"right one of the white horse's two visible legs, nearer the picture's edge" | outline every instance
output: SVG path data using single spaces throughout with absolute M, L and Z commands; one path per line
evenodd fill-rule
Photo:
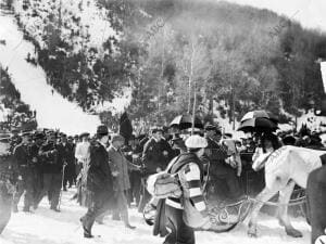
M 302 237 L 302 233 L 292 227 L 292 224 L 290 222 L 290 218 L 288 216 L 287 204 L 290 201 L 294 185 L 296 185 L 294 181 L 290 181 L 284 189 L 281 189 L 279 191 L 278 218 L 279 218 L 279 223 L 285 227 L 288 235 L 293 236 L 293 237 Z

